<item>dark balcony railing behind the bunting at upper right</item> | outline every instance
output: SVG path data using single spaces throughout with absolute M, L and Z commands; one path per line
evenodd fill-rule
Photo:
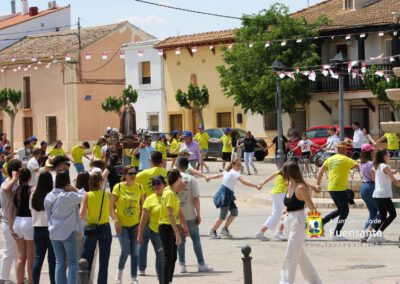
M 368 66 L 367 68 L 370 68 Z M 376 65 L 377 70 L 389 71 L 393 69 L 392 64 L 380 64 Z M 365 86 L 362 79 L 357 76 L 353 78 L 352 74 L 346 74 L 344 77 L 344 90 L 345 91 L 356 91 L 363 90 Z M 333 79 L 330 76 L 323 76 L 322 74 L 317 75 L 315 82 L 310 81 L 310 90 L 314 93 L 321 92 L 337 92 L 339 91 L 339 80 Z

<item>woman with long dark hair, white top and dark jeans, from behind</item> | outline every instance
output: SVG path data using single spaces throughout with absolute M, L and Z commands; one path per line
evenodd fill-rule
M 33 284 L 40 283 L 40 274 L 47 252 L 50 283 L 55 284 L 56 257 L 49 236 L 49 223 L 44 211 L 44 199 L 53 190 L 53 177 L 49 172 L 39 175 L 38 184 L 31 194 L 33 239 L 35 241 L 35 261 L 33 262 Z

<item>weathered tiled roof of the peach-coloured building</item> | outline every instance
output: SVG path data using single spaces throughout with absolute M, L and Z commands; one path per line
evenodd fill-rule
M 81 29 L 82 48 L 124 25 L 129 25 L 129 23 L 121 22 Z M 0 65 L 9 65 L 14 54 L 17 56 L 15 63 L 18 63 L 18 61 L 29 61 L 32 55 L 36 55 L 38 59 L 45 61 L 51 58 L 63 58 L 68 53 L 76 53 L 78 51 L 77 30 L 31 35 L 0 51 Z

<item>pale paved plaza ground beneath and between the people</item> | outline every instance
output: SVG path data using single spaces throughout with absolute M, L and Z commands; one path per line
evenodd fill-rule
M 220 163 L 210 162 L 212 172 L 217 172 Z M 259 168 L 258 175 L 246 178 L 253 182 L 262 181 L 271 174 L 275 167 L 272 164 L 256 163 Z M 177 264 L 173 283 L 243 283 L 242 254 L 240 247 L 250 245 L 253 257 L 253 283 L 279 283 L 279 272 L 285 255 L 287 243 L 271 240 L 261 242 L 255 239 L 255 234 L 271 213 L 271 207 L 260 202 L 248 203 L 244 200 L 254 199 L 254 196 L 269 196 L 271 185 L 257 193 L 255 189 L 249 189 L 239 184 L 236 192 L 238 197 L 239 217 L 230 228 L 234 236 L 233 240 L 210 240 L 207 236 L 211 224 L 218 216 L 212 201 L 212 196 L 218 190 L 220 181 L 215 180 L 206 183 L 199 180 L 202 192 L 201 210 L 202 224 L 200 225 L 201 241 L 207 264 L 214 268 L 212 273 L 197 273 L 197 264 L 190 239 L 187 242 L 186 261 L 189 273 L 180 274 Z M 267 196 L 267 197 L 266 197 Z M 323 215 L 330 209 L 321 209 Z M 400 213 L 400 212 L 399 212 Z M 344 233 L 358 234 L 362 231 L 363 222 L 368 212 L 366 209 L 351 209 L 349 223 L 344 226 Z M 348 242 L 330 241 L 329 231 L 334 224 L 326 226 L 327 237 L 306 241 L 306 251 L 311 261 L 320 273 L 323 283 L 400 283 L 400 217 L 387 229 L 385 237 L 390 243 L 383 245 L 361 244 L 357 236 L 350 237 Z M 268 236 L 272 236 L 268 233 Z M 0 248 L 3 240 L 0 240 Z M 110 257 L 109 281 L 115 283 L 120 247 L 118 240 L 113 239 L 112 253 Z M 43 268 L 41 283 L 49 283 L 47 265 Z M 139 277 L 139 283 L 157 283 L 154 269 L 154 251 L 149 245 L 148 274 Z M 14 275 L 13 275 L 14 277 Z M 129 260 L 124 271 L 124 282 L 130 283 Z M 301 272 L 298 270 L 296 283 L 305 283 Z

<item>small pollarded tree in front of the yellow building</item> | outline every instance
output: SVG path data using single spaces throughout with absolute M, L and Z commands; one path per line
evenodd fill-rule
M 181 107 L 193 110 L 200 124 L 204 127 L 203 109 L 209 102 L 208 88 L 205 85 L 199 88 L 198 86 L 190 84 L 187 93 L 179 89 L 176 92 L 175 99 Z

